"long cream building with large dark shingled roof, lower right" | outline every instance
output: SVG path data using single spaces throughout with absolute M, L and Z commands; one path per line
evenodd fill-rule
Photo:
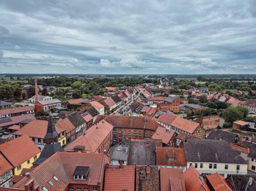
M 226 141 L 188 139 L 184 148 L 187 168 L 193 165 L 202 176 L 219 173 L 226 178 L 229 174 L 247 174 L 247 161 Z

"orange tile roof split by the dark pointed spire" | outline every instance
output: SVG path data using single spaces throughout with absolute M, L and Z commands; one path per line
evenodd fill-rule
M 17 130 L 13 134 L 15 135 L 27 134 L 29 137 L 44 139 L 45 134 L 47 132 L 47 126 L 48 126 L 48 121 L 36 119 L 26 124 L 20 130 Z M 55 129 L 58 134 L 65 131 L 64 129 L 61 129 L 58 126 L 55 126 Z

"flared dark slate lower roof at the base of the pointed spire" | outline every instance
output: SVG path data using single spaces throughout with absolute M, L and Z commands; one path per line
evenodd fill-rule
M 46 144 L 45 147 L 43 147 L 43 150 L 38 159 L 35 160 L 32 164 L 39 165 L 56 152 L 65 152 L 62 146 L 60 146 L 59 142 L 54 144 Z

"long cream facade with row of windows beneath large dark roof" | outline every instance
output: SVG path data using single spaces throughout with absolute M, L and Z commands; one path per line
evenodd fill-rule
M 187 162 L 187 168 L 193 165 L 202 175 L 219 173 L 224 178 L 230 174 L 247 174 L 248 164 L 232 164 L 232 163 L 211 163 L 211 162 Z

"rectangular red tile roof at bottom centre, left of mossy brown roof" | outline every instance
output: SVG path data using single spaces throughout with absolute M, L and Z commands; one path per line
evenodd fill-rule
M 106 165 L 105 170 L 105 191 L 134 191 L 135 187 L 135 166 L 123 165 L 122 169 L 116 165 Z

